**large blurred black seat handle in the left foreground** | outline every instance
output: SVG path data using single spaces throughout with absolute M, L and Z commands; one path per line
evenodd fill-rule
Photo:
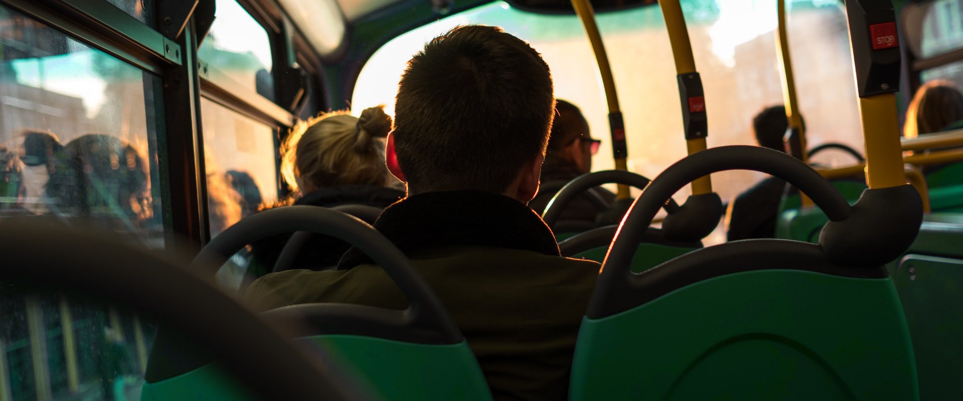
M 0 225 L 0 281 L 41 283 L 143 311 L 197 339 L 263 399 L 362 399 L 323 349 L 305 355 L 287 339 L 288 327 L 269 326 L 209 277 L 92 229 L 17 220 Z

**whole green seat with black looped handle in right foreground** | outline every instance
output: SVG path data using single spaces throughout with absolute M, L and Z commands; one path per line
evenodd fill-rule
M 664 201 L 726 170 L 779 176 L 832 223 L 820 244 L 743 240 L 632 272 L 638 239 Z M 909 329 L 885 267 L 922 219 L 915 189 L 867 190 L 851 207 L 784 153 L 713 147 L 677 162 L 614 239 L 576 342 L 571 400 L 919 398 Z M 889 204 L 887 212 L 874 204 Z M 880 216 L 887 216 L 882 222 Z

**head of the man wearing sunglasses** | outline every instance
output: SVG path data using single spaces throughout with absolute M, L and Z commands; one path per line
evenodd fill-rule
M 545 159 L 564 161 L 579 174 L 592 171 L 592 154 L 598 150 L 599 142 L 592 139 L 588 121 L 578 107 L 565 100 L 557 101 L 555 109 Z

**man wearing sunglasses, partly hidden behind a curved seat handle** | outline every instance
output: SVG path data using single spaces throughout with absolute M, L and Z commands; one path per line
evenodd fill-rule
M 555 109 L 555 122 L 552 123 L 552 133 L 548 137 L 545 164 L 542 165 L 542 184 L 538 195 L 529 202 L 529 206 L 539 214 L 545 212 L 548 202 L 565 183 L 591 172 L 592 156 L 601 145 L 601 141 L 592 139 L 588 121 L 578 107 L 565 100 L 558 100 Z M 615 194 L 602 187 L 589 191 L 594 194 L 586 193 L 569 202 L 559 220 L 586 222 L 586 227 L 593 227 L 600 210 L 588 197 L 595 196 L 611 204 L 615 200 Z

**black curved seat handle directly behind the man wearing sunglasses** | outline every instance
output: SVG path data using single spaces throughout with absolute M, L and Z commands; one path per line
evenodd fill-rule
M 568 205 L 570 201 L 575 200 L 579 195 L 582 195 L 582 193 L 599 185 L 610 183 L 625 184 L 644 190 L 645 187 L 649 185 L 649 182 L 651 182 L 651 180 L 642 175 L 623 170 L 605 170 L 579 175 L 561 187 L 559 193 L 555 194 L 555 197 L 548 202 L 548 205 L 545 206 L 545 212 L 542 213 L 542 220 L 545 221 L 548 227 L 554 227 L 555 224 L 558 223 L 565 206 Z M 679 205 L 671 198 L 664 203 L 663 207 L 668 213 L 673 213 L 679 209 Z

